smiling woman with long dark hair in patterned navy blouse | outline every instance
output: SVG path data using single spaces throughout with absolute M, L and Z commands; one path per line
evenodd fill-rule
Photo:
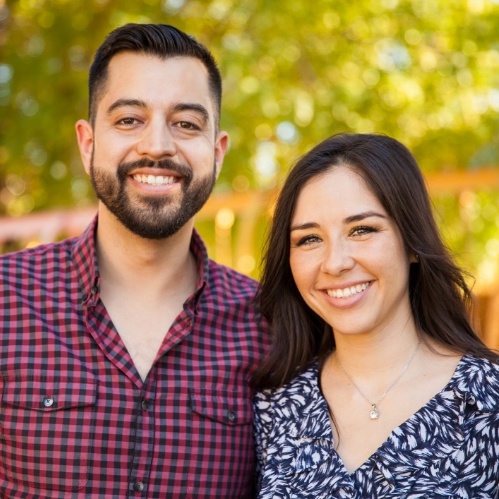
M 259 497 L 499 494 L 497 355 L 406 147 L 343 134 L 298 161 L 259 300 Z

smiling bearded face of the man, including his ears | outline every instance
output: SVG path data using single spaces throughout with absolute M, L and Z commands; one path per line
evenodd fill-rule
M 175 234 L 208 199 L 227 147 L 195 58 L 124 52 L 109 63 L 94 128 L 77 124 L 101 203 L 135 234 Z

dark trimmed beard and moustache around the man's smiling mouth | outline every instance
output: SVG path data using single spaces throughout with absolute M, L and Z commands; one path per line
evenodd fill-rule
M 180 204 L 172 206 L 168 195 L 140 196 L 134 202 L 127 192 L 128 173 L 138 167 L 156 167 L 161 174 L 166 169 L 182 180 Z M 121 163 L 115 175 L 96 170 L 90 165 L 90 178 L 97 197 L 108 210 L 131 232 L 146 239 L 163 239 L 180 230 L 206 203 L 216 181 L 215 165 L 212 175 L 193 180 L 192 170 L 170 159 L 152 161 L 147 158 Z M 138 194 L 135 194 L 138 196 Z

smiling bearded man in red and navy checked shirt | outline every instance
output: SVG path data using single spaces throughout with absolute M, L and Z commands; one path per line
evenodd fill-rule
M 1 497 L 249 497 L 255 283 L 193 216 L 222 167 L 220 74 L 166 25 L 98 49 L 76 133 L 98 214 L 0 259 Z

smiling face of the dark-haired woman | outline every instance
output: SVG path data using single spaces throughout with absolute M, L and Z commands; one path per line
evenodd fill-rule
M 335 337 L 404 328 L 410 260 L 395 222 L 355 170 L 334 166 L 304 185 L 290 245 L 298 290 Z

